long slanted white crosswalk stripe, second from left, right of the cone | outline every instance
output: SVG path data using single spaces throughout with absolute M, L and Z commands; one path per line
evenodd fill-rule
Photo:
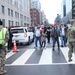
M 33 52 L 34 52 L 34 49 L 28 49 L 17 60 L 15 60 L 11 65 L 24 65 Z

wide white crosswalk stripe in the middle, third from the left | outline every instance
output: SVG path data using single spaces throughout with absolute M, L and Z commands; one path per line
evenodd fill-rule
M 39 64 L 51 64 L 52 63 L 52 48 L 46 48 L 43 50 Z

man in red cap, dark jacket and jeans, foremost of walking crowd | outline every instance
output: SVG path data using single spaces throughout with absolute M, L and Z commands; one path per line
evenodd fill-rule
M 58 28 L 57 24 L 54 24 L 54 27 L 52 28 L 52 31 L 51 31 L 51 36 L 53 39 L 53 51 L 55 50 L 56 42 L 58 45 L 58 50 L 60 50 L 60 45 L 59 45 L 60 29 Z

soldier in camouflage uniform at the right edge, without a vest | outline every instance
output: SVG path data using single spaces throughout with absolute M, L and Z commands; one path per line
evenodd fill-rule
M 72 61 L 72 53 L 75 50 L 75 20 L 71 20 L 71 26 L 67 30 L 67 40 L 69 43 L 68 61 Z

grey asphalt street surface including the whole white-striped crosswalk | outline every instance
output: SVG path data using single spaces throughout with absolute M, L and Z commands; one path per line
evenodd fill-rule
M 68 47 L 55 48 L 47 44 L 46 49 L 35 50 L 34 43 L 19 46 L 19 52 L 7 54 L 5 75 L 75 75 L 75 56 L 68 62 Z

